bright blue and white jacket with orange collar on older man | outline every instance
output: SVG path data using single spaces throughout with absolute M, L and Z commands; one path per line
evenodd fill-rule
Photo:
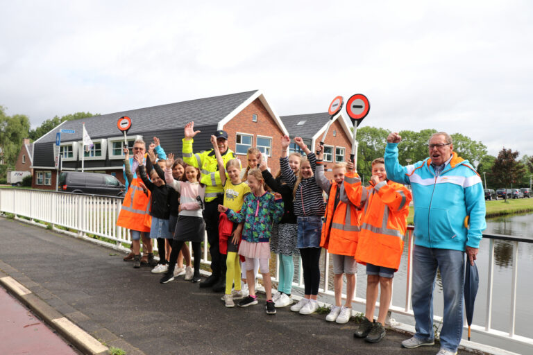
M 387 143 L 384 160 L 389 180 L 412 187 L 416 245 L 461 251 L 465 246 L 479 248 L 487 228 L 485 198 L 480 175 L 468 160 L 454 152 L 436 175 L 429 157 L 401 166 L 396 143 Z

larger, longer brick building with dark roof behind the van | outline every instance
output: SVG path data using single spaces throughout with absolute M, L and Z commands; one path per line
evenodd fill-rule
M 273 142 L 276 142 L 276 137 L 288 134 L 258 90 L 65 121 L 34 142 L 32 187 L 56 188 L 54 147 L 56 133 L 60 130 L 74 130 L 74 133 L 61 134 L 63 171 L 81 171 L 81 155 L 84 154 L 84 171 L 108 173 L 124 182 L 124 134 L 117 128 L 121 116 L 129 116 L 132 120 L 127 135 L 130 148 L 135 139 L 144 139 L 148 145 L 153 137 L 158 137 L 165 152 L 177 156 L 181 155 L 183 128 L 189 121 L 194 121 L 194 129 L 201 131 L 194 139 L 195 152 L 210 149 L 210 136 L 216 130 L 226 130 L 230 149 L 244 166 L 246 150 L 251 146 L 259 146 L 269 157 L 279 157 L 280 147 Z M 82 146 L 82 123 L 85 123 L 94 144 L 89 152 L 85 152 Z M 277 171 L 278 159 L 271 159 L 269 166 Z

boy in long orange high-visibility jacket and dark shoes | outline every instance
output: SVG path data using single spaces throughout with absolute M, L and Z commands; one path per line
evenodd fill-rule
M 364 207 L 355 259 L 366 264 L 366 312 L 354 336 L 378 343 L 385 336 L 383 324 L 391 303 L 392 278 L 400 266 L 412 195 L 404 185 L 387 180 L 383 158 L 373 160 L 371 186 L 366 189 L 355 175 L 346 176 L 352 181 L 344 182 L 348 198 L 354 205 Z M 375 322 L 378 286 L 380 312 Z

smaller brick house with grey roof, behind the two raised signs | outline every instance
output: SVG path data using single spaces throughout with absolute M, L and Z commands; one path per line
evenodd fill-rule
M 289 137 L 302 137 L 307 147 L 312 152 L 316 151 L 316 146 L 320 144 L 325 128 L 330 120 L 328 112 L 317 114 L 297 114 L 294 116 L 281 116 L 283 125 L 290 132 Z M 330 130 L 324 140 L 324 162 L 326 167 L 325 175 L 333 178 L 331 166 L 334 162 L 348 162 L 352 150 L 352 130 L 351 123 L 339 112 L 333 117 Z M 296 144 L 291 143 L 289 152 L 302 153 Z

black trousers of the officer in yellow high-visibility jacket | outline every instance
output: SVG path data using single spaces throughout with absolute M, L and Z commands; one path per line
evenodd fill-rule
M 219 248 L 219 204 L 223 198 L 215 198 L 205 202 L 203 220 L 205 231 L 208 233 L 209 253 L 211 255 L 211 270 L 217 277 L 226 277 L 226 255 L 220 253 Z M 222 200 L 222 201 L 221 201 Z

